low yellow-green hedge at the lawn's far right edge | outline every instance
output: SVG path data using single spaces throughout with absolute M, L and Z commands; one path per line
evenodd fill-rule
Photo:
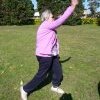
M 95 24 L 100 26 L 100 18 L 82 18 L 82 24 Z

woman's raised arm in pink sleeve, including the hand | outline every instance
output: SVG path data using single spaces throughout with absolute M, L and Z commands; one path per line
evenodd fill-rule
M 49 29 L 56 29 L 57 27 L 62 25 L 69 18 L 69 16 L 73 13 L 73 11 L 74 11 L 77 4 L 78 4 L 78 0 L 72 0 L 71 6 L 69 6 L 65 10 L 64 14 L 60 18 L 58 18 L 57 20 L 51 22 L 48 25 L 48 28 Z

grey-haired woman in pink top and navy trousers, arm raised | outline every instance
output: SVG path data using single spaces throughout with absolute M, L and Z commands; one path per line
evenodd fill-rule
M 60 94 L 64 93 L 59 88 L 62 79 L 62 69 L 59 63 L 59 43 L 55 29 L 68 19 L 77 4 L 78 0 L 71 0 L 71 5 L 56 20 L 54 20 L 50 10 L 45 10 L 42 13 L 41 19 L 43 22 L 38 28 L 36 41 L 36 57 L 39 62 L 39 69 L 30 82 L 20 87 L 22 100 L 27 100 L 27 95 L 43 82 L 50 70 L 52 70 L 53 74 L 51 90 Z

